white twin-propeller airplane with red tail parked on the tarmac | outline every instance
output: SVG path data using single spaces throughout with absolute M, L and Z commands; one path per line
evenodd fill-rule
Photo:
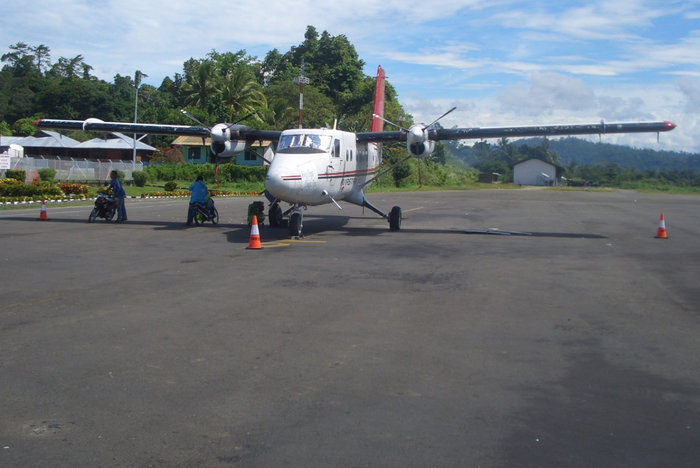
M 400 207 L 394 206 L 389 213 L 385 213 L 372 205 L 364 193 L 364 189 L 377 177 L 394 167 L 379 172 L 382 165 L 383 143 L 405 142 L 409 153 L 408 158 L 426 158 L 435 150 L 436 142 L 441 140 L 659 133 L 676 127 L 674 123 L 668 121 L 620 123 L 601 121 L 594 124 L 451 129 L 436 127 L 438 120 L 452 112 L 454 110 L 452 108 L 431 124 L 417 123 L 408 129 L 399 127 L 396 131 L 384 131 L 384 122 L 388 122 L 384 119 L 385 80 L 384 69 L 379 66 L 374 113 L 369 132 L 352 133 L 336 128 L 260 130 L 242 124 L 227 123 L 219 123 L 209 128 L 203 125 L 103 122 L 95 118 L 41 119 L 37 120 L 35 125 L 38 128 L 59 130 L 209 137 L 211 152 L 217 158 L 216 160 L 239 154 L 255 141 L 277 141 L 274 158 L 266 161 L 269 163 L 265 179 L 265 194 L 270 200 L 268 221 L 270 226 L 279 226 L 288 216 L 289 235 L 294 238 L 301 237 L 303 234 L 303 212 L 308 206 L 334 203 L 342 209 L 338 204 L 339 201 L 369 208 L 389 222 L 389 230 L 401 229 Z M 282 212 L 280 206 L 282 202 L 290 206 L 285 212 Z

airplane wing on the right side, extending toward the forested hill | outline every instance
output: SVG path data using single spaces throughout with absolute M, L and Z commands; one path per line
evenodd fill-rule
M 406 141 L 414 132 L 414 125 L 409 130 L 393 132 L 363 132 L 357 134 L 358 141 L 390 142 Z M 534 125 L 518 127 L 472 127 L 472 128 L 417 128 L 425 140 L 474 140 L 485 138 L 521 138 L 532 136 L 557 135 L 604 135 L 607 133 L 656 133 L 668 132 L 676 128 L 672 122 L 620 122 L 572 125 Z

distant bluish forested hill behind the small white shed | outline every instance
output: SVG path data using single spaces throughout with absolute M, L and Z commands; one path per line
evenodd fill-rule
M 526 138 L 513 142 L 516 146 L 542 145 L 542 138 Z M 563 166 L 572 162 L 579 166 L 606 166 L 640 171 L 669 170 L 700 172 L 700 154 L 636 149 L 610 143 L 594 143 L 580 138 L 561 138 L 549 141 L 549 150 L 559 155 Z

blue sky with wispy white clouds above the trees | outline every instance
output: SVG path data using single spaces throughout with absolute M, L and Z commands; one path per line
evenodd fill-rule
M 700 152 L 700 0 L 6 0 L 0 50 L 45 44 L 158 86 L 213 49 L 286 52 L 308 25 L 347 36 L 366 74 L 382 65 L 417 121 L 452 106 L 448 127 L 670 120 L 658 143 L 603 141 Z

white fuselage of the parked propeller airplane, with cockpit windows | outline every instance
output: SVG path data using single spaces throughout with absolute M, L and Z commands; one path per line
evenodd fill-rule
M 267 191 L 293 205 L 345 200 L 361 205 L 362 188 L 381 164 L 380 145 L 331 129 L 282 132 L 265 181 Z

